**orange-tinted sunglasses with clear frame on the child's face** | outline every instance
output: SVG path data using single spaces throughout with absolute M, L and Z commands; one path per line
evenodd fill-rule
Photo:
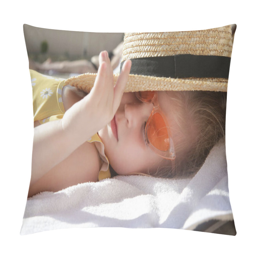
M 154 108 L 145 127 L 145 137 L 149 147 L 159 156 L 166 159 L 175 159 L 170 126 L 160 109 L 157 92 L 135 92 L 136 97 L 145 103 L 152 103 Z

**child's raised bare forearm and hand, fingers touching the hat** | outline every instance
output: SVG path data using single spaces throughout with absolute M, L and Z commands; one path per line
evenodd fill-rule
M 120 105 L 130 68 L 129 60 L 114 87 L 108 53 L 101 52 L 100 67 L 91 92 L 69 108 L 61 120 L 34 129 L 30 184 L 66 159 L 112 120 Z

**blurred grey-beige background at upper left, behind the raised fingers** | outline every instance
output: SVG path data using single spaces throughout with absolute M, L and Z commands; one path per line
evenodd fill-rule
M 109 53 L 114 73 L 118 73 L 124 33 L 93 33 L 37 28 L 24 24 L 29 68 L 68 78 L 96 73 L 98 55 Z M 114 60 L 113 60 L 114 59 Z

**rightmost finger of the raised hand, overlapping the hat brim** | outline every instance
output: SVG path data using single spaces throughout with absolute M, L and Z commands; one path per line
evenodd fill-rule
M 131 66 L 132 66 L 132 61 L 126 60 L 122 67 L 122 71 L 117 79 L 117 82 L 114 88 L 114 102 L 113 102 L 114 111 L 116 111 L 120 105 L 120 102 L 124 93 L 124 88 L 130 74 Z

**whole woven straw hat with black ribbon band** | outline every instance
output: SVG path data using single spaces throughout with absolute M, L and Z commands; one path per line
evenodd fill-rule
M 122 64 L 132 60 L 125 92 L 227 91 L 231 25 L 198 31 L 125 33 Z M 118 75 L 114 75 L 116 82 Z M 96 74 L 67 79 L 90 92 Z

